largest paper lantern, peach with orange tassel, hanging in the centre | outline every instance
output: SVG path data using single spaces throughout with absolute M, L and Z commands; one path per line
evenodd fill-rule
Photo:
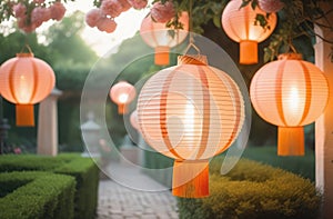
M 244 121 L 243 97 L 205 57 L 179 57 L 143 86 L 138 119 L 144 140 L 175 159 L 173 195 L 209 196 L 209 159 L 226 150 Z

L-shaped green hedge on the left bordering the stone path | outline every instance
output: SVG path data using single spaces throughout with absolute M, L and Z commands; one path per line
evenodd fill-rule
M 94 218 L 98 205 L 99 169 L 89 158 L 79 153 L 47 156 L 1 156 L 0 172 L 48 171 L 75 178 L 74 218 Z

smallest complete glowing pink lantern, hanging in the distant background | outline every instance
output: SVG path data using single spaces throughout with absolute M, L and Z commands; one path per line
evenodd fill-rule
M 128 104 L 135 98 L 135 88 L 127 81 L 120 81 L 110 90 L 110 97 L 118 104 L 118 113 L 128 113 Z

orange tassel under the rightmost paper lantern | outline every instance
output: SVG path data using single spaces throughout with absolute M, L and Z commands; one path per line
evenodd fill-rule
M 304 156 L 303 127 L 279 127 L 279 156 Z

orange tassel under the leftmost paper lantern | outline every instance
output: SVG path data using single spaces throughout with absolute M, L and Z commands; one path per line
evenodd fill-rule
M 34 127 L 33 104 L 16 104 L 17 126 Z

